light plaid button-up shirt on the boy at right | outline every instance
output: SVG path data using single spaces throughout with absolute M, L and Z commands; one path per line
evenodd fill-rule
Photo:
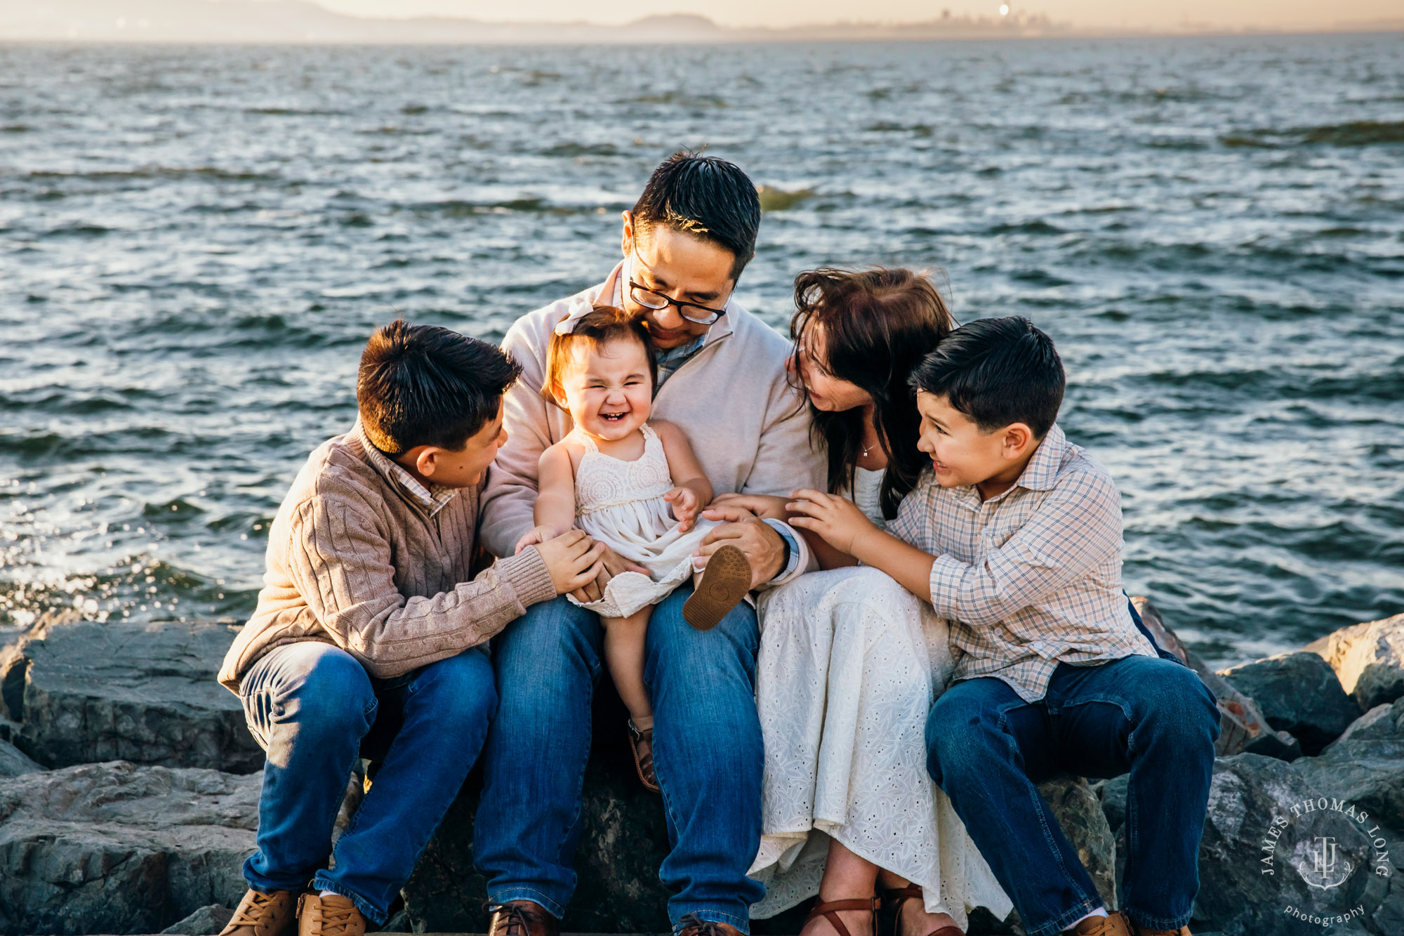
M 994 676 L 1032 703 L 1059 663 L 1155 656 L 1122 593 L 1120 495 L 1057 426 L 988 500 L 927 472 L 889 531 L 936 557 L 931 604 L 951 623 L 958 680 Z

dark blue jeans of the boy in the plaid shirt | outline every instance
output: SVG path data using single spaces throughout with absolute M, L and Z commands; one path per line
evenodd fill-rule
M 993 677 L 948 689 L 927 720 L 927 769 L 1029 936 L 1052 936 L 1102 905 L 1035 784 L 1060 772 L 1130 772 L 1126 909 L 1147 929 L 1178 929 L 1199 891 L 1217 736 L 1213 694 L 1178 661 L 1061 663 L 1032 704 Z

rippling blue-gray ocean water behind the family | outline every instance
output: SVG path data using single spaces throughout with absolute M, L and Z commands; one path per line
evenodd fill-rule
M 1212 661 L 1404 611 L 1400 39 L 0 46 L 0 627 L 246 616 L 371 329 L 500 337 L 701 145 L 771 323 L 886 263 L 1053 334 Z

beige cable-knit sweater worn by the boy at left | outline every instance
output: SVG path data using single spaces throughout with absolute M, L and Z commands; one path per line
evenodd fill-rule
M 268 534 L 258 607 L 219 682 L 239 680 L 281 644 L 322 641 L 390 677 L 482 644 L 556 597 L 535 547 L 469 575 L 480 489 L 432 517 L 371 464 L 352 427 L 307 458 Z

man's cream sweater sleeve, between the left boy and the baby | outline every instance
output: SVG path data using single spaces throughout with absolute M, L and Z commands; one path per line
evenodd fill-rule
M 550 424 L 541 396 L 546 374 L 546 349 L 528 330 L 514 326 L 503 350 L 522 365 L 522 375 L 503 396 L 503 429 L 507 444 L 487 472 L 482 523 L 477 534 L 493 555 L 511 555 L 517 541 L 535 526 L 536 472 L 541 454 L 550 447 Z

